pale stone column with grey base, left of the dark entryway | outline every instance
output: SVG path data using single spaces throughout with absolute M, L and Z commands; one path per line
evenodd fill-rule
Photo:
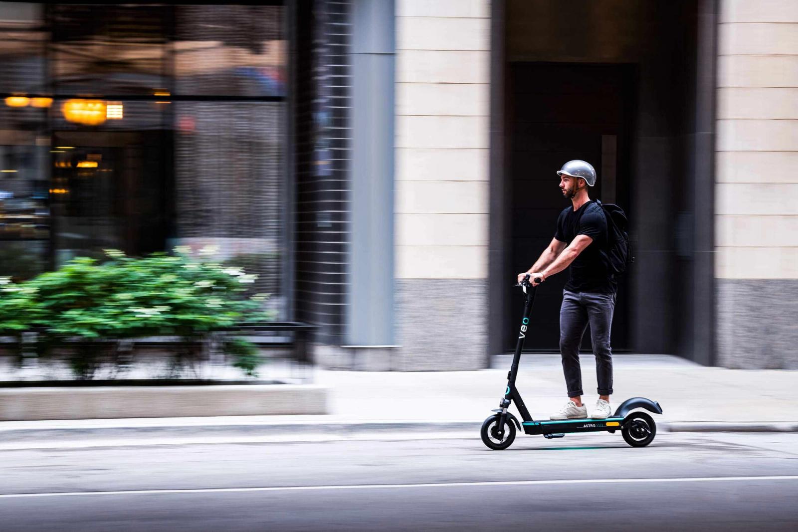
M 396 6 L 393 369 L 484 368 L 490 2 Z

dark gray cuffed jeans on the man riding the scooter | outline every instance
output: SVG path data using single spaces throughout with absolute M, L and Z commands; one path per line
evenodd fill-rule
M 615 294 L 577 294 L 563 290 L 563 306 L 559 309 L 559 353 L 563 357 L 563 372 L 569 397 L 583 395 L 579 345 L 587 325 L 591 326 L 599 395 L 608 396 L 612 393 L 610 329 L 614 310 Z

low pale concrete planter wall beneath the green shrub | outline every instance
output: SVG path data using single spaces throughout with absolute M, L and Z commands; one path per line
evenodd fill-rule
M 326 414 L 314 384 L 98 386 L 0 389 L 0 420 Z

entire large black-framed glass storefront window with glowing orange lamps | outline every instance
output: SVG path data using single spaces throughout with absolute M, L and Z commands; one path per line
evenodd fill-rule
M 0 276 L 212 245 L 286 308 L 282 17 L 0 2 Z

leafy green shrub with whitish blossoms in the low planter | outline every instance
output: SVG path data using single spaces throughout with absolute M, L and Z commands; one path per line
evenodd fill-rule
M 190 250 L 178 247 L 173 255 L 144 258 L 116 250 L 106 254 L 106 262 L 74 258 L 25 282 L 0 279 L 0 335 L 37 331 L 44 356 L 54 346 L 72 345 L 73 372 L 91 378 L 109 354 L 109 341 L 178 336 L 184 350 L 177 359 L 185 360 L 196 357 L 197 346 L 212 332 L 272 319 L 262 309 L 265 294 L 245 296 L 255 276 L 223 267 L 208 253 L 192 258 Z M 225 345 L 232 346 L 234 365 L 254 375 L 255 358 L 243 341 Z

